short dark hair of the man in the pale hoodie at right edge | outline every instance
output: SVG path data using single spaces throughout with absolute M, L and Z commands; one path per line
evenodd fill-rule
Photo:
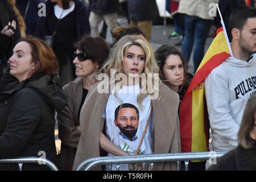
M 232 29 L 237 28 L 242 31 L 249 18 L 256 18 L 256 9 L 254 7 L 240 6 L 232 11 L 228 23 L 229 40 L 232 40 Z

